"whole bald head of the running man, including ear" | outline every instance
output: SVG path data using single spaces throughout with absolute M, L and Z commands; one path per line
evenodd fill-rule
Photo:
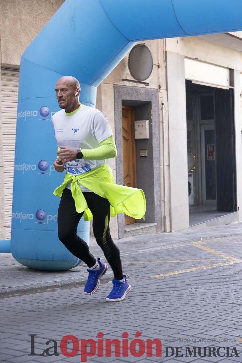
M 75 110 L 80 104 L 80 91 L 81 86 L 77 78 L 63 76 L 58 79 L 56 83 L 56 97 L 61 109 L 65 109 L 67 113 Z

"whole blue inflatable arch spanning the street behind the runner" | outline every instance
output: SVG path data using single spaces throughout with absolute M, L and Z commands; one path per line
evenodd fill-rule
M 241 0 L 66 0 L 21 58 L 11 252 L 25 266 L 66 270 L 81 261 L 58 240 L 53 195 L 55 85 L 81 83 L 80 101 L 95 107 L 97 86 L 137 41 L 242 30 Z M 79 226 L 89 239 L 89 222 Z M 81 231 L 81 232 L 80 232 Z M 2 241 L 1 252 L 10 251 Z

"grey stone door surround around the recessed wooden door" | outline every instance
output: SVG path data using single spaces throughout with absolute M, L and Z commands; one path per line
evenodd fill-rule
M 152 115 L 150 121 L 150 139 L 148 141 L 152 163 L 152 172 L 144 174 L 143 178 L 137 176 L 137 187 L 144 191 L 147 209 L 145 219 L 139 223 L 156 223 L 156 233 L 162 232 L 161 218 L 161 190 L 160 190 L 160 118 L 158 90 L 144 87 L 114 85 L 114 111 L 115 111 L 115 143 L 116 156 L 116 183 L 123 184 L 123 141 L 122 141 L 122 105 L 139 107 L 141 104 L 151 103 Z M 140 141 L 140 140 L 139 140 Z M 141 147 L 142 148 L 142 147 Z M 139 166 L 137 165 L 137 175 Z M 118 213 L 118 237 L 123 238 L 125 233 L 124 215 Z

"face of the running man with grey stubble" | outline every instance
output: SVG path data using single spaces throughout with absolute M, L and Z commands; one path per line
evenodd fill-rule
M 69 109 L 75 101 L 75 88 L 68 81 L 60 80 L 56 83 L 56 97 L 61 109 Z

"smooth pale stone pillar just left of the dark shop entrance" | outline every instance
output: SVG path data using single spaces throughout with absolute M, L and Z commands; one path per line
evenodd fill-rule
M 167 52 L 171 231 L 189 227 L 184 56 Z

